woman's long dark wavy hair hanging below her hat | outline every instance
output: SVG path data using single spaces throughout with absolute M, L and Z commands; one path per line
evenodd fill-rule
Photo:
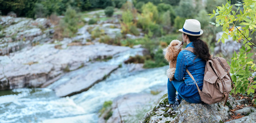
M 195 58 L 200 57 L 204 60 L 211 59 L 208 45 L 200 39 L 200 36 L 187 35 L 190 42 L 193 42 Z

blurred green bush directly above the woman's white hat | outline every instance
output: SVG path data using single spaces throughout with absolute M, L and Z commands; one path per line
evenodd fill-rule
M 191 3 L 193 3 L 193 0 L 181 0 L 179 6 L 176 8 L 176 14 L 180 17 L 193 18 L 196 15 L 196 9 Z

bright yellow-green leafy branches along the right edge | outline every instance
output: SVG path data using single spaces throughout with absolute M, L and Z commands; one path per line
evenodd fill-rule
M 256 31 L 256 9 L 254 1 L 244 0 L 243 2 L 243 4 L 234 5 L 238 7 L 237 11 L 233 11 L 233 5 L 228 2 L 226 5 L 218 6 L 216 10 L 213 10 L 213 14 L 209 15 L 216 17 L 215 23 L 212 24 L 216 25 L 216 27 L 222 26 L 222 31 L 224 31 L 218 42 L 221 40 L 222 43 L 225 43 L 225 38 L 227 39 L 228 36 L 237 42 L 243 42 L 243 47 L 240 49 L 239 54 L 236 52 L 233 54 L 230 73 L 237 88 L 235 91 L 249 94 L 254 93 L 256 88 L 256 85 L 253 85 L 255 82 L 248 80 L 248 77 L 256 71 L 252 58 L 256 45 L 251 41 L 252 37 L 250 37 Z M 241 27 L 238 27 L 238 25 Z M 232 92 L 234 92 L 234 89 Z

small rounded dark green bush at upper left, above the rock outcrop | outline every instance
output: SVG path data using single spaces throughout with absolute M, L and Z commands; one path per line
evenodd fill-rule
M 40 17 L 45 17 L 45 15 L 48 13 L 48 10 L 46 7 L 44 7 L 43 4 L 36 3 L 34 12 L 35 12 L 35 18 L 40 18 Z

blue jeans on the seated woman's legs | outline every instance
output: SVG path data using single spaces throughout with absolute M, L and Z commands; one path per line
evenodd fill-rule
M 179 94 L 180 92 L 178 92 L 178 95 L 176 96 L 176 90 L 178 90 L 178 88 L 182 84 L 184 84 L 183 80 L 182 81 L 170 81 L 169 78 L 168 78 L 167 90 L 168 90 L 168 101 L 169 101 L 169 104 L 174 104 L 175 101 L 176 101 L 176 98 L 178 100 L 184 99 L 188 103 L 192 103 L 192 104 L 202 103 L 200 95 L 196 95 L 196 96 L 193 96 L 193 97 L 185 98 L 183 95 Z

